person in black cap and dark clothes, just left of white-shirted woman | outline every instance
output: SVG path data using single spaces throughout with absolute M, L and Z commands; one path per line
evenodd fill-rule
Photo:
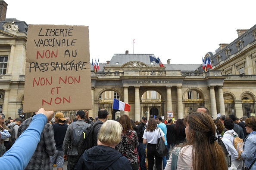
M 143 134 L 145 129 L 147 128 L 147 116 L 143 116 L 141 118 L 141 123 L 138 124 L 138 138 L 139 138 L 139 146 L 138 146 L 138 155 L 140 158 L 140 170 L 146 170 L 145 161 L 146 161 L 146 145 L 143 144 Z

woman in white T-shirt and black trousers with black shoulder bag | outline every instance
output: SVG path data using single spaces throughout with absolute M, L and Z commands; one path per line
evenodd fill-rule
M 143 134 L 143 143 L 147 144 L 148 170 L 153 170 L 154 158 L 156 158 L 156 170 L 162 170 L 162 157 L 156 155 L 156 143 L 160 137 L 162 137 L 162 140 L 165 142 L 162 129 L 157 127 L 154 118 L 149 118 L 147 129 L 145 129 Z

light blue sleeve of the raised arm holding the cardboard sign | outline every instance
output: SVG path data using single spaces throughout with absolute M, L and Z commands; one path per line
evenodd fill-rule
M 34 115 L 28 129 L 15 141 L 11 149 L 0 158 L 1 167 L 8 167 L 10 170 L 24 170 L 37 148 L 46 123 L 47 117 L 45 115 Z

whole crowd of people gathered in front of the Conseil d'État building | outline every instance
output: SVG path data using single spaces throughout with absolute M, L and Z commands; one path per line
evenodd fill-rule
M 67 170 L 256 170 L 254 116 L 221 115 L 213 120 L 206 107 L 175 121 L 150 115 L 136 122 L 125 114 L 113 121 L 108 115 L 100 109 L 93 119 L 79 110 L 70 120 L 62 112 L 52 118 L 52 111 L 41 108 L 26 120 L 22 114 L 4 122 L 0 113 L 0 164 L 11 170 L 50 170 L 54 165 L 62 170 L 64 161 Z M 90 128 L 92 146 L 79 155 L 79 132 Z M 241 152 L 236 137 L 242 140 Z M 159 138 L 169 151 L 161 157 L 156 149 Z M 28 143 L 21 157 L 17 148 Z

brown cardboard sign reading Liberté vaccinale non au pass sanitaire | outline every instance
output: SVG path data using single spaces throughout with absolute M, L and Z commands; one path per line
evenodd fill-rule
M 87 26 L 29 25 L 24 112 L 92 109 Z

